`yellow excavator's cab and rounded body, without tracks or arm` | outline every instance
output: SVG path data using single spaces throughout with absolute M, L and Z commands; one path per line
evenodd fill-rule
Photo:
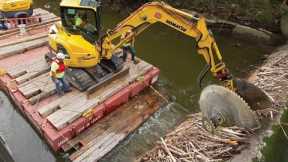
M 49 45 L 67 57 L 74 68 L 91 68 L 100 63 L 100 3 L 96 0 L 62 0 L 61 23 L 50 28 Z M 81 65 L 81 66 L 79 66 Z

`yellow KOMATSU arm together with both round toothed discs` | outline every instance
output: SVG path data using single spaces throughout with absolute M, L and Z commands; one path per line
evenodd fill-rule
M 162 2 L 147 3 L 118 24 L 114 30 L 107 32 L 103 37 L 102 57 L 111 58 L 112 53 L 123 43 L 130 42 L 149 26 L 158 22 L 196 40 L 197 52 L 204 58 L 208 67 L 200 77 L 200 86 L 204 74 L 209 70 L 214 77 L 224 82 L 226 88 L 210 85 L 201 93 L 199 106 L 204 128 L 211 132 L 219 125 L 259 128 L 258 118 L 252 109 L 263 109 L 267 107 L 265 105 L 271 107 L 273 100 L 257 86 L 232 77 L 202 16 L 196 17 Z M 132 34 L 128 34 L 125 39 L 119 39 L 127 32 Z

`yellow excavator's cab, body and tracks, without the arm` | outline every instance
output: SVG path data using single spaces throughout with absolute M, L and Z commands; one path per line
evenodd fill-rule
M 86 91 L 100 86 L 118 74 L 123 60 L 118 56 L 103 59 L 101 33 L 101 5 L 98 0 L 62 0 L 61 23 L 50 28 L 51 53 L 45 55 L 51 62 L 55 53 L 66 55 L 69 67 L 66 78 L 76 89 Z

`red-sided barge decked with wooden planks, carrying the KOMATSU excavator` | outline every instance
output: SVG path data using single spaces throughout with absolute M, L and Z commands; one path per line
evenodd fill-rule
M 44 55 L 49 27 L 59 18 L 36 11 L 43 18 L 25 34 L 0 32 L 0 87 L 55 152 L 72 161 L 97 161 L 159 109 L 160 98 L 147 87 L 160 71 L 138 59 L 92 93 L 73 89 L 58 97 Z

